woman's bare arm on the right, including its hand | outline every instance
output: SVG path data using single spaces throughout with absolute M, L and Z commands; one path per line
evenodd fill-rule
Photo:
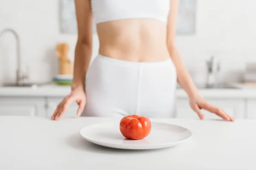
M 191 108 L 198 114 L 200 119 L 204 119 L 204 115 L 201 113 L 201 109 L 205 109 L 215 113 L 218 116 L 221 116 L 225 120 L 234 121 L 234 119 L 225 113 L 221 108 L 208 103 L 199 95 L 198 89 L 196 88 L 191 77 L 189 76 L 188 71 L 185 68 L 185 65 L 183 64 L 180 54 L 175 47 L 178 8 L 179 0 L 170 0 L 170 12 L 167 23 L 167 47 L 170 57 L 172 58 L 172 61 L 177 70 L 177 82 L 188 94 L 189 104 Z

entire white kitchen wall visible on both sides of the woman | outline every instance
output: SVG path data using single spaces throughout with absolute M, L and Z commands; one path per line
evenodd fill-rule
M 0 30 L 14 28 L 21 41 L 24 65 L 31 81 L 49 81 L 57 73 L 57 42 L 70 45 L 76 35 L 60 34 L 58 0 L 0 0 Z M 246 62 L 256 62 L 256 1 L 197 0 L 196 34 L 177 36 L 177 48 L 195 82 L 204 82 L 206 59 L 221 59 L 221 79 L 240 80 Z M 99 43 L 94 37 L 93 56 Z M 15 42 L 0 40 L 0 82 L 15 80 Z

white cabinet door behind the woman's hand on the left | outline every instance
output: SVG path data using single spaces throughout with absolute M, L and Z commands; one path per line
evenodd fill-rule
M 47 98 L 47 116 L 50 117 L 54 113 L 58 104 L 64 99 L 64 97 L 49 97 Z M 62 117 L 76 117 L 78 105 L 76 102 L 72 103 L 67 109 L 66 113 Z

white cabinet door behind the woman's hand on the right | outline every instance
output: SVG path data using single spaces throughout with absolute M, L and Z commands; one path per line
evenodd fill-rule
M 209 103 L 222 108 L 226 113 L 236 119 L 244 119 L 245 102 L 243 99 L 207 99 Z M 201 110 L 205 119 L 221 119 L 219 116 L 209 111 Z M 178 118 L 198 118 L 197 113 L 193 113 L 189 106 L 189 99 L 177 99 Z

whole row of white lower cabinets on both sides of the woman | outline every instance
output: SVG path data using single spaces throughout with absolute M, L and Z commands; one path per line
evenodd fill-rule
M 63 97 L 0 97 L 0 115 L 17 116 L 44 116 L 50 117 L 54 113 Z M 207 99 L 207 98 L 206 98 Z M 235 119 L 256 119 L 256 99 L 217 99 L 208 98 L 207 101 L 224 109 Z M 189 99 L 186 97 L 177 98 L 177 118 L 199 119 L 197 114 L 189 106 Z M 63 117 L 76 117 L 78 105 L 72 103 L 64 113 Z M 221 119 L 214 113 L 201 110 L 205 119 Z

